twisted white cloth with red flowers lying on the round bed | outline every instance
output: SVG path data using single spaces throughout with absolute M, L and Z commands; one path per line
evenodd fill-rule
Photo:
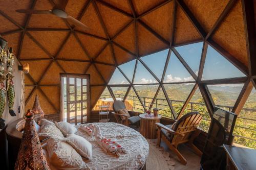
M 97 125 L 89 125 L 80 127 L 80 129 L 86 131 L 90 136 L 95 135 L 95 139 L 100 147 L 107 153 L 112 153 L 119 156 L 121 153 L 127 153 L 121 144 L 111 139 L 106 139 L 101 135 L 100 128 Z

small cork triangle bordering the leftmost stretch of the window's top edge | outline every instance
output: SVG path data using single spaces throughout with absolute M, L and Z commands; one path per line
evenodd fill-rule
M 115 56 L 116 56 L 116 62 L 118 65 L 121 65 L 125 62 L 131 61 L 135 58 L 135 56 L 125 52 L 120 47 L 113 45 Z

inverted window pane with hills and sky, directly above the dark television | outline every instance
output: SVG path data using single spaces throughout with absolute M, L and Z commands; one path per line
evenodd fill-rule
M 243 88 L 243 84 L 217 84 L 207 85 L 207 87 L 215 105 L 231 111 Z

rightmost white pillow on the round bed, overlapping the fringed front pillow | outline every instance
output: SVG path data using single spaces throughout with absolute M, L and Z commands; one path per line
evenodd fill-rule
M 66 140 L 84 158 L 92 158 L 92 144 L 81 136 L 68 134 Z

